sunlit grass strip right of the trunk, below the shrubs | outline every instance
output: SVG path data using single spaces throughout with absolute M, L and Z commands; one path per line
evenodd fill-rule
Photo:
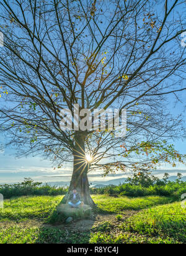
M 96 196 L 92 196 L 92 198 L 98 206 L 99 213 L 122 213 L 128 209 L 137 211 L 159 204 L 167 204 L 173 200 L 172 198 L 164 196 L 144 196 L 143 198 L 118 196 L 118 198 L 114 198 L 112 196 L 106 196 L 105 194 L 97 194 Z

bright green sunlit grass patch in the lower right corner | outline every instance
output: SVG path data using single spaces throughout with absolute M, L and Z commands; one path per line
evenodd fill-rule
M 122 225 L 123 229 L 186 242 L 186 209 L 180 202 L 140 211 Z

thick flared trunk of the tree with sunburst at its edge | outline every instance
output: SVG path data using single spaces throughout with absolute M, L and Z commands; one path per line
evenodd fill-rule
M 75 135 L 76 145 L 74 148 L 74 167 L 73 176 L 69 186 L 68 193 L 64 196 L 62 203 L 67 203 L 69 196 L 76 189 L 81 195 L 84 204 L 88 204 L 91 207 L 95 206 L 94 201 L 91 198 L 89 190 L 89 180 L 87 177 L 87 171 L 89 170 L 89 163 L 86 162 L 85 155 L 85 135 L 78 133 Z

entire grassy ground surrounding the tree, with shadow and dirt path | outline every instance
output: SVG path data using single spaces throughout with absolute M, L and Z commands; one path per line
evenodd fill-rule
M 0 209 L 0 243 L 185 243 L 186 211 L 172 197 L 92 196 L 89 219 L 51 224 L 63 196 L 6 199 Z

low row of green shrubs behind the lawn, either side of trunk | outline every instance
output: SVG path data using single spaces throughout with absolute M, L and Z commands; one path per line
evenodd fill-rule
M 164 178 L 166 179 L 166 178 Z M 124 183 L 118 186 L 109 185 L 104 188 L 91 188 L 91 194 L 109 194 L 110 196 L 174 196 L 180 199 L 181 194 L 186 193 L 186 182 L 177 179 L 176 181 L 157 181 L 156 183 L 143 186 L 141 184 L 134 185 L 131 183 Z M 56 187 L 48 184 L 34 182 L 30 178 L 25 178 L 22 183 L 14 185 L 0 185 L 0 193 L 4 198 L 11 198 L 14 196 L 57 196 L 66 194 L 68 187 Z

